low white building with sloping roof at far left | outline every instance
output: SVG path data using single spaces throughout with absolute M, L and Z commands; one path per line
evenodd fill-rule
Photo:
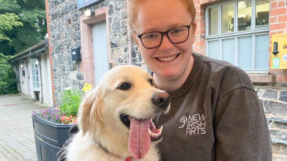
M 16 73 L 20 93 L 53 105 L 47 39 L 13 56 L 8 63 Z

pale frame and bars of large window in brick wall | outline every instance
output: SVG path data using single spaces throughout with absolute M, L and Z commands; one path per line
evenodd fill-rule
M 256 35 L 262 35 L 262 34 L 269 34 L 269 25 L 268 27 L 255 29 L 255 20 L 256 20 L 256 0 L 251 0 L 251 30 L 244 30 L 244 31 L 238 31 L 238 19 L 237 19 L 237 13 L 238 13 L 238 2 L 244 1 L 244 0 L 231 0 L 231 1 L 225 1 L 217 4 L 212 4 L 209 6 L 206 6 L 205 15 L 206 15 L 206 26 L 205 26 L 205 41 L 206 41 L 206 56 L 208 56 L 208 41 L 211 40 L 219 40 L 219 59 L 222 59 L 222 39 L 228 39 L 228 38 L 235 38 L 235 52 L 234 52 L 234 65 L 238 66 L 238 37 L 242 36 L 252 36 L 252 65 L 251 69 L 243 69 L 246 73 L 268 73 L 268 68 L 266 69 L 254 69 L 255 68 L 255 40 Z M 222 12 L 222 6 L 226 4 L 234 3 L 234 29 L 233 33 L 221 33 L 221 12 Z M 269 1 L 270 5 L 270 1 Z M 208 35 L 209 33 L 209 9 L 213 7 L 218 7 L 218 33 L 214 35 Z M 270 9 L 269 9 L 269 19 L 270 19 Z M 268 61 L 268 60 L 266 60 Z

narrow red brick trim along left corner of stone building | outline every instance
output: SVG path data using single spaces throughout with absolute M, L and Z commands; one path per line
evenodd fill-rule
M 46 5 L 46 20 L 47 20 L 47 33 L 48 33 L 48 45 L 49 45 L 49 59 L 50 59 L 50 71 L 51 71 L 51 85 L 52 85 L 52 96 L 53 96 L 53 104 L 56 104 L 56 99 L 54 96 L 55 93 L 55 86 L 54 86 L 54 73 L 52 70 L 52 65 L 53 65 L 53 61 L 52 61 L 52 47 L 51 47 L 51 32 L 50 32 L 50 17 L 49 17 L 49 3 L 48 0 L 45 0 L 45 5 Z

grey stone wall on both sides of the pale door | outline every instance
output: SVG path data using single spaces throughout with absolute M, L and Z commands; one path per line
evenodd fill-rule
M 83 74 L 79 65 L 72 61 L 71 48 L 81 47 L 80 16 L 86 9 L 109 8 L 111 59 L 116 65 L 129 63 L 127 14 L 125 0 L 101 0 L 77 10 L 75 0 L 48 0 L 48 28 L 50 32 L 54 97 L 59 101 L 60 92 L 66 87 L 82 88 Z M 133 64 L 141 66 L 137 47 L 132 45 Z

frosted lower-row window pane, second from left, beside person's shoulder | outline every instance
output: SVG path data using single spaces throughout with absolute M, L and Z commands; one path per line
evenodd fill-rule
M 234 38 L 222 39 L 222 60 L 234 65 Z

